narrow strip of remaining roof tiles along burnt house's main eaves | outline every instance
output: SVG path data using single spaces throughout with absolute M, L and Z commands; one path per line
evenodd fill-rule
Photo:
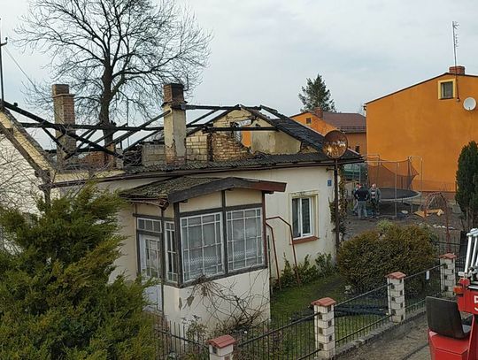
M 360 160 L 360 157 L 357 157 Z M 247 170 L 248 168 L 257 168 L 263 166 L 274 165 L 293 165 L 293 164 L 306 164 L 306 163 L 325 163 L 329 164 L 332 160 L 326 157 L 322 152 L 310 152 L 299 154 L 280 154 L 280 155 L 258 155 L 242 160 L 231 161 L 197 161 L 187 162 L 181 165 L 161 164 L 151 166 L 132 166 L 125 168 L 127 173 L 140 173 L 140 172 L 174 172 L 178 170 L 190 170 L 200 171 L 206 169 L 231 169 L 231 170 Z

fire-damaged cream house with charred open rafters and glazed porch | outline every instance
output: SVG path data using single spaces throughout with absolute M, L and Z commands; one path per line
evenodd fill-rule
M 53 94 L 61 101 L 55 123 L 11 104 L 0 111 L 2 124 L 13 129 L 10 141 L 37 167 L 48 195 L 90 179 L 120 190 L 129 205 L 119 214 L 125 241 L 112 276 L 157 280 L 147 295 L 167 318 L 198 317 L 212 326 L 237 320 L 239 308 L 267 318 L 270 279 L 286 259 L 297 264 L 307 255 L 335 256 L 333 163 L 321 151 L 322 134 L 263 105 L 189 105 L 182 86 L 171 84 L 164 88 L 164 125 L 153 119 L 134 129 L 119 126 L 124 132 L 113 136 L 112 146 L 104 135 L 93 140 L 85 135 L 91 129 L 74 124 L 65 86 Z M 211 116 L 189 121 L 187 111 L 195 109 Z M 57 149 L 42 149 L 28 137 L 15 112 L 59 132 Z M 148 136 L 123 143 L 146 126 L 152 126 Z M 249 147 L 241 136 L 247 126 L 254 128 Z M 22 134 L 33 144 L 29 151 L 16 142 Z M 361 161 L 353 151 L 340 160 Z M 237 298 L 244 306 L 231 301 Z

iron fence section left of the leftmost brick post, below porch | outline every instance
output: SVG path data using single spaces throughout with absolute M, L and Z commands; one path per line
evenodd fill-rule
M 158 359 L 206 360 L 209 349 L 204 338 L 205 329 L 195 324 L 176 324 L 159 314 L 152 314 L 156 335 L 156 357 Z

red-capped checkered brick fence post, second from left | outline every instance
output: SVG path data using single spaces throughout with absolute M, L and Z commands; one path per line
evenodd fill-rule
M 330 297 L 312 302 L 313 312 L 316 314 L 313 318 L 315 349 L 320 350 L 318 356 L 324 359 L 332 359 L 335 356 L 335 303 Z

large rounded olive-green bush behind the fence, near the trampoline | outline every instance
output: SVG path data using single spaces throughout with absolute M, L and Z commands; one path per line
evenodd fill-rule
M 380 229 L 343 242 L 337 257 L 339 272 L 360 290 L 378 287 L 390 272 L 407 275 L 432 267 L 434 234 L 421 226 L 381 224 Z

